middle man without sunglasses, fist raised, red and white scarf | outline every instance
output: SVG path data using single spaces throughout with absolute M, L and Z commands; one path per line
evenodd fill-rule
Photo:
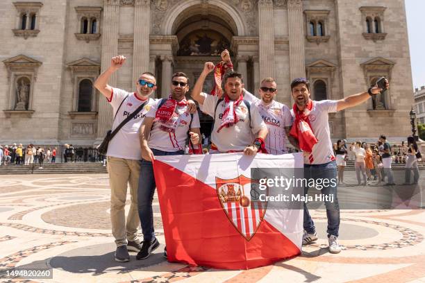
M 267 126 L 256 105 L 244 101 L 240 74 L 230 71 L 224 76 L 223 99 L 202 92 L 203 82 L 214 67 L 212 62 L 205 63 L 192 90 L 201 110 L 214 119 L 210 153 L 243 151 L 246 155 L 256 155 L 260 148 L 265 148 Z

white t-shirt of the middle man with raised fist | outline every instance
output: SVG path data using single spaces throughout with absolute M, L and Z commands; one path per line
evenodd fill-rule
M 205 100 L 203 104 L 199 104 L 199 107 L 203 112 L 215 119 L 211 141 L 217 146 L 219 152 L 243 151 L 247 146 L 253 144 L 254 134 L 262 128 L 267 128 L 256 105 L 251 105 L 251 121 L 249 121 L 247 105 L 242 101 L 238 105 L 238 108 L 235 109 L 236 115 L 239 118 L 238 123 L 228 128 L 222 128 L 220 132 L 217 132 L 218 128 L 222 125 L 226 102 L 223 100 L 219 103 L 214 117 L 215 105 L 217 105 L 219 98 L 205 93 L 201 95 Z

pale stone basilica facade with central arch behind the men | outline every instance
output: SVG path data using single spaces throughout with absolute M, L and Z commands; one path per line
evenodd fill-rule
M 4 0 L 0 45 L 0 144 L 93 146 L 110 129 L 110 105 L 93 87 L 110 58 L 127 61 L 110 85 L 135 89 L 156 74 L 156 97 L 171 76 L 190 85 L 203 63 L 231 51 L 245 87 L 276 79 L 276 100 L 292 105 L 290 81 L 306 77 L 315 100 L 363 92 L 385 76 L 391 87 L 330 115 L 333 139 L 401 141 L 413 103 L 403 0 Z M 213 78 L 204 89 L 213 86 Z M 202 116 L 203 131 L 210 119 Z M 134 145 L 138 146 L 138 145 Z

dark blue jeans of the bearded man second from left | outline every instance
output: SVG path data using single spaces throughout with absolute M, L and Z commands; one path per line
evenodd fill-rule
M 184 151 L 166 152 L 158 151 L 151 148 L 153 155 L 183 155 Z M 142 160 L 140 164 L 140 177 L 138 188 L 138 210 L 140 223 L 142 224 L 143 241 L 152 241 L 155 239 L 155 232 L 153 230 L 153 210 L 152 201 L 153 194 L 155 194 L 155 177 L 153 175 L 152 162 Z

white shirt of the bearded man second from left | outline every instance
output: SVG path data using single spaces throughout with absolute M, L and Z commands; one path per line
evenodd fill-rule
M 156 110 L 162 99 L 158 99 L 153 105 L 151 110 L 146 114 L 147 117 L 155 118 Z M 164 132 L 160 129 L 160 121 L 154 121 L 151 128 L 151 135 L 149 136 L 148 145 L 149 148 L 158 149 L 158 151 L 176 152 L 184 151 L 186 140 L 188 139 L 189 125 L 192 117 L 188 112 L 188 106 L 176 106 L 176 116 L 172 117 L 174 126 L 176 126 L 175 132 Z M 199 114 L 194 112 L 193 121 L 191 128 L 201 128 L 199 123 Z

